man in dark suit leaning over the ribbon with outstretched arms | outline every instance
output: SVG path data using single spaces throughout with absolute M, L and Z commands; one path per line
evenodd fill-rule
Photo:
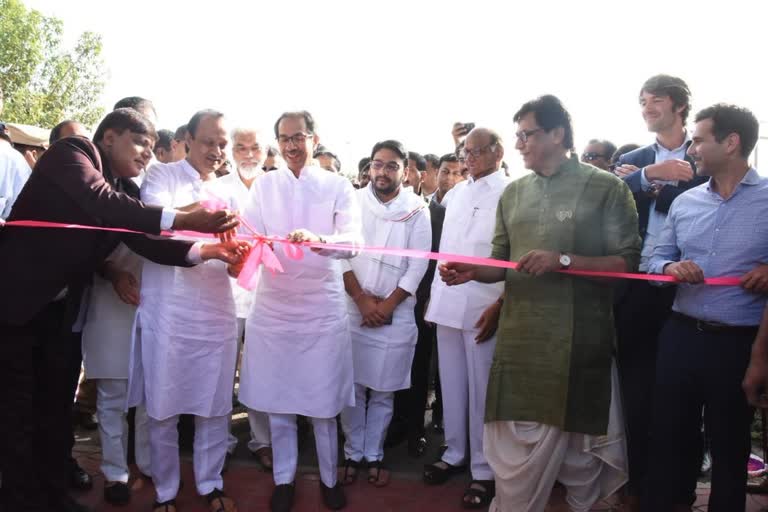
M 131 181 L 152 155 L 155 130 L 138 112 L 108 114 L 93 137 L 56 142 L 37 163 L 9 217 L 64 224 L 161 230 L 222 231 L 236 226 L 225 212 L 147 206 Z M 80 295 L 120 242 L 153 261 L 190 266 L 237 259 L 235 244 L 153 240 L 99 230 L 0 230 L 0 416 L 3 510 L 86 511 L 67 493 L 72 430 L 72 324 Z M 34 279 L 30 279 L 34 276 Z

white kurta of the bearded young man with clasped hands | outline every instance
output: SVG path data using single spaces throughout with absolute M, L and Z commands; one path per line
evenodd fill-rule
M 389 204 L 379 202 L 372 185 L 357 192 L 366 246 L 429 251 L 432 226 L 429 208 L 410 190 L 401 191 Z M 414 213 L 415 212 L 415 213 Z M 395 308 L 390 325 L 362 327 L 362 316 L 347 296 L 352 333 L 355 383 L 376 391 L 397 391 L 411 385 L 411 362 L 418 329 L 413 308 L 415 293 L 428 260 L 363 252 L 342 262 L 344 271 L 354 272 L 363 291 L 382 299 L 396 288 L 410 296 Z

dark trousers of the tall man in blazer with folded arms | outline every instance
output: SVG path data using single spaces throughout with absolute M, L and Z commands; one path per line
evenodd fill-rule
M 645 281 L 627 281 L 624 286 L 614 314 L 629 457 L 627 490 L 640 496 L 648 475 L 658 338 L 672 310 L 676 288 Z M 693 489 L 695 485 L 694 477 Z

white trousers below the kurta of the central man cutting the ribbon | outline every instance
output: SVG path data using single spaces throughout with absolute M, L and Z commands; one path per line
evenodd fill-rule
M 320 479 L 328 487 L 336 485 L 336 470 L 339 463 L 339 439 L 336 418 L 310 418 L 315 431 L 317 462 Z M 269 428 L 272 432 L 273 466 L 275 485 L 290 484 L 296 479 L 299 448 L 295 414 L 269 414 Z

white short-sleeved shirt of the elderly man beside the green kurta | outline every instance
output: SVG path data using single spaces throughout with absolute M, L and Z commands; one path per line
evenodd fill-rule
M 496 227 L 496 207 L 508 184 L 509 179 L 504 176 L 504 172 L 496 171 L 477 181 L 470 178 L 453 187 L 445 211 L 440 252 L 490 257 Z M 424 318 L 454 329 L 474 329 L 483 311 L 496 302 L 503 292 L 503 282 L 489 284 L 470 281 L 458 286 L 447 286 L 440 274 L 436 273 Z

